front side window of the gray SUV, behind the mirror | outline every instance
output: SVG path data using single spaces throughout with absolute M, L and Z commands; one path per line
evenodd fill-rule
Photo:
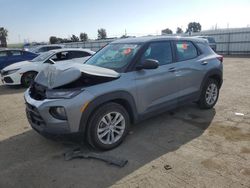
M 155 59 L 160 65 L 169 64 L 173 61 L 170 42 L 153 42 L 141 57 L 141 63 L 146 59 Z

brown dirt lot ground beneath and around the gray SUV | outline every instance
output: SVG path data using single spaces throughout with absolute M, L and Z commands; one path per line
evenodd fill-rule
M 69 145 L 31 130 L 23 92 L 0 85 L 0 187 L 250 187 L 250 59 L 224 59 L 214 109 L 185 106 L 135 125 L 107 152 L 128 159 L 124 168 L 64 161 Z

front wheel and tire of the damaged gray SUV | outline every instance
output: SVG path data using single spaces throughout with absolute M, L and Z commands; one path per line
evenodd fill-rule
M 110 150 L 122 143 L 130 126 L 126 109 L 117 103 L 99 107 L 88 124 L 88 143 L 97 149 Z

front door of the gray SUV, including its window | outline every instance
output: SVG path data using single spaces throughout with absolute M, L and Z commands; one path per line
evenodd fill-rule
M 159 67 L 136 71 L 139 113 L 151 112 L 160 107 L 176 106 L 178 83 L 173 72 L 173 53 L 170 41 L 152 42 L 140 58 L 159 61 Z

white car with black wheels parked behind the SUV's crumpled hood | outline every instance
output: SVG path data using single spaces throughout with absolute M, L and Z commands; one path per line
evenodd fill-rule
M 95 52 L 80 48 L 63 48 L 45 52 L 33 60 L 21 61 L 5 67 L 1 71 L 1 80 L 4 85 L 22 85 L 29 87 L 37 73 L 48 64 L 66 66 L 73 63 L 84 63 Z

